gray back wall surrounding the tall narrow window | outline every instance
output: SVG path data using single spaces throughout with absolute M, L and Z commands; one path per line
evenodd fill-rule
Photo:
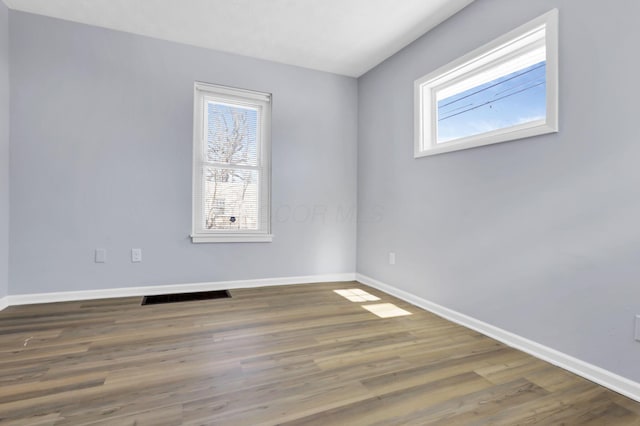
M 355 270 L 355 79 L 19 12 L 10 35 L 11 294 Z M 188 238 L 195 80 L 273 93 L 272 243 Z

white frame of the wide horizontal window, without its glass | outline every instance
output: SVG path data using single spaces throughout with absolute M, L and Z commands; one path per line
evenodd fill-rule
M 435 93 L 462 79 L 473 77 L 487 67 L 499 64 L 514 51 L 518 40 L 545 28 L 546 117 L 486 133 L 437 143 L 437 100 Z M 558 131 L 558 10 L 510 31 L 490 43 L 419 78 L 414 83 L 414 157 L 442 154 L 527 138 Z

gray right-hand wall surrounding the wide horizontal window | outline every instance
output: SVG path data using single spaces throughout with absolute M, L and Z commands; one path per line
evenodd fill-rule
M 357 270 L 639 381 L 640 2 L 616 6 L 477 0 L 360 78 Z M 554 7 L 560 133 L 414 159 L 413 81 Z

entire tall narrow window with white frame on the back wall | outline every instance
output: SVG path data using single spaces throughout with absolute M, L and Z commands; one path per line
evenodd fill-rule
M 192 241 L 271 241 L 271 94 L 196 82 L 193 111 Z

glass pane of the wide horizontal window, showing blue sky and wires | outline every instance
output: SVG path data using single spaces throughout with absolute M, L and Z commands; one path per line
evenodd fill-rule
M 502 64 L 500 68 L 507 73 L 498 78 L 494 78 L 495 69 L 490 69 L 471 77 L 484 80 L 482 84 L 465 88 L 463 81 L 459 83 L 463 91 L 450 94 L 451 87 L 447 87 L 438 92 L 437 143 L 544 120 L 546 61 L 531 64 L 531 57 Z M 525 66 L 518 68 L 522 64 Z M 482 74 L 492 80 L 483 79 Z

